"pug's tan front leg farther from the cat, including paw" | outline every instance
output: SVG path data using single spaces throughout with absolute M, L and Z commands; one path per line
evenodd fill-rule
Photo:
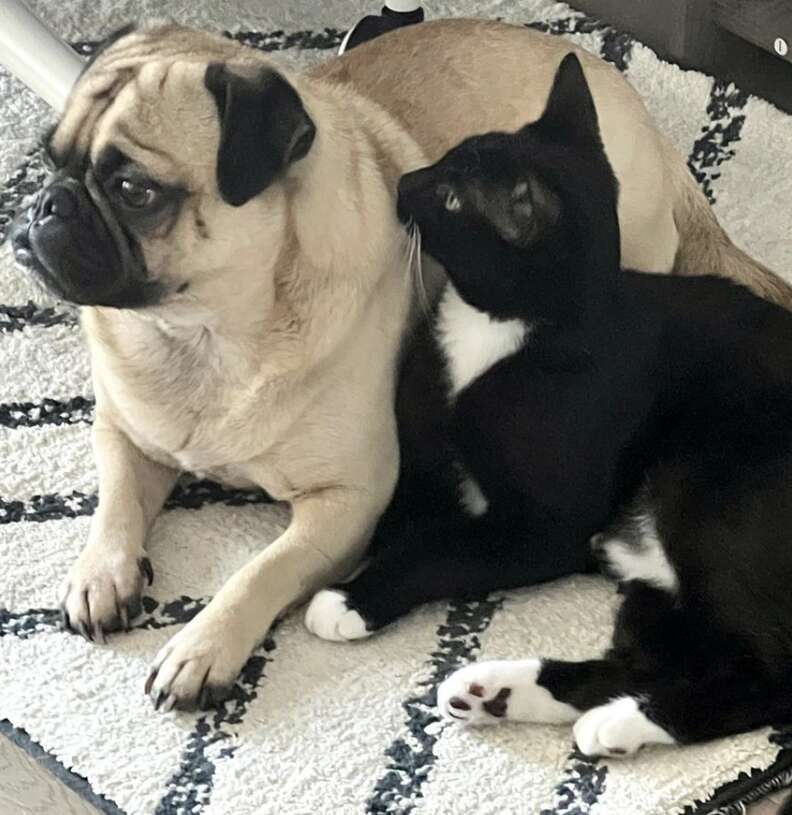
M 140 612 L 144 578 L 153 580 L 144 544 L 177 472 L 147 458 L 118 428 L 97 416 L 93 446 L 99 506 L 88 543 L 60 595 L 63 621 L 86 639 L 129 627 Z

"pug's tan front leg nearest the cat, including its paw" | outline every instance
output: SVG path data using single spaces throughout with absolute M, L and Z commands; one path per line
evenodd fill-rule
M 286 531 L 159 652 L 146 682 L 155 707 L 225 698 L 275 617 L 350 570 L 381 509 L 371 496 L 341 488 L 295 500 Z

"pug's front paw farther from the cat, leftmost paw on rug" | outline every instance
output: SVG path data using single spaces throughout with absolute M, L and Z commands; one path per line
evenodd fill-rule
M 68 631 L 105 642 L 105 634 L 129 630 L 141 611 L 143 582 L 151 585 L 151 561 L 142 552 L 87 546 L 61 588 L 61 613 Z

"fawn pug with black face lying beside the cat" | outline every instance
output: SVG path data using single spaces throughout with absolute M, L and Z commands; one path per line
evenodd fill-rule
M 285 532 L 156 656 L 162 710 L 224 697 L 275 617 L 361 559 L 398 471 L 394 381 L 415 254 L 399 177 L 538 117 L 576 51 L 621 188 L 624 262 L 790 290 L 725 237 L 613 68 L 500 23 L 402 29 L 305 73 L 221 36 L 126 29 L 76 84 L 18 259 L 81 306 L 99 505 L 65 624 L 125 629 L 180 472 L 291 504 Z

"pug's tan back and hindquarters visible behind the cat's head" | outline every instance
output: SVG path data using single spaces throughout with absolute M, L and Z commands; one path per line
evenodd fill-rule
M 516 26 L 441 20 L 393 37 L 387 53 L 374 41 L 310 75 L 382 105 L 434 162 L 474 132 L 516 130 L 538 118 L 556 68 L 572 50 L 583 64 L 619 179 L 623 264 L 669 271 L 673 263 L 675 274 L 722 275 L 792 306 L 789 284 L 721 229 L 684 157 L 655 129 L 633 88 L 587 51 Z

